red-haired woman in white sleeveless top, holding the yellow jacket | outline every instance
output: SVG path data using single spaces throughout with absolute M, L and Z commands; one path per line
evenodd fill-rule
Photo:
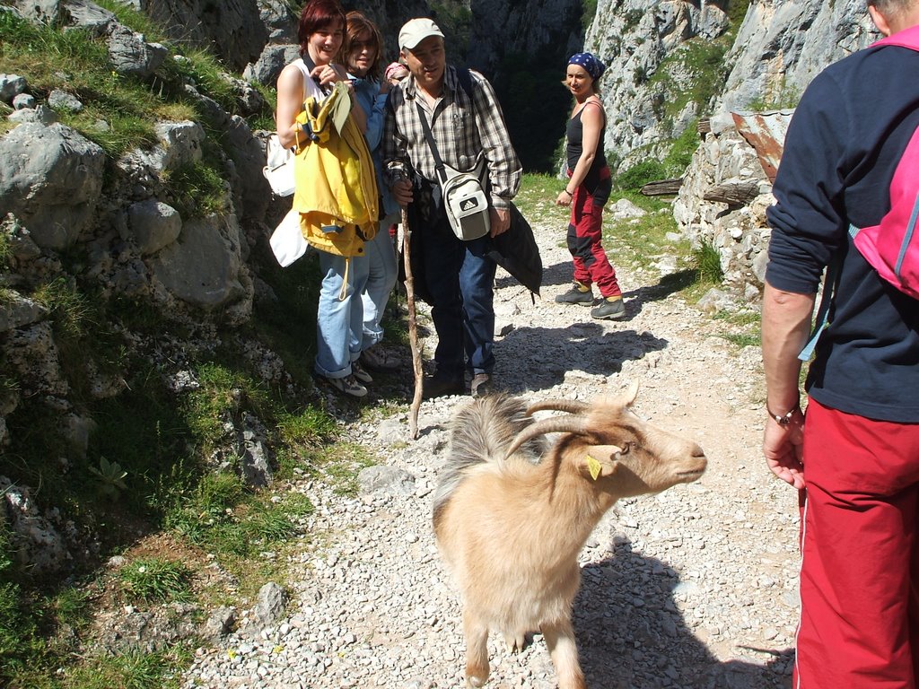
M 336 82 L 349 84 L 346 69 L 339 63 L 342 58 L 345 28 L 345 12 L 336 0 L 310 0 L 303 6 L 298 31 L 301 58 L 287 65 L 278 76 L 278 107 L 275 112 L 278 139 L 285 147 L 298 147 L 298 157 L 300 152 L 308 147 L 321 145 L 310 139 L 303 130 L 304 125 L 298 121 L 304 102 L 312 97 L 314 102 L 320 103 Z M 353 87 L 348 85 L 348 93 L 344 97 L 351 99 L 348 118 L 353 118 L 358 130 L 363 132 L 367 120 L 364 111 L 360 107 L 354 107 Z M 357 138 L 360 139 L 359 133 Z M 366 152 L 366 147 L 364 154 L 367 155 L 369 167 L 369 152 Z M 298 196 L 294 197 L 295 206 L 301 194 L 300 176 L 297 184 Z M 375 186 L 373 195 L 376 196 Z M 376 200 L 373 198 L 374 209 L 377 205 Z M 311 207 L 300 210 L 301 228 L 304 228 L 307 241 L 319 249 L 319 267 L 323 274 L 316 314 L 314 371 L 335 390 L 353 397 L 363 397 L 367 394 L 367 388 L 363 383 L 370 382 L 372 378 L 357 363 L 364 322 L 360 295 L 364 291 L 369 268 L 363 251 L 362 237 L 357 236 L 351 241 L 358 230 L 353 223 L 341 223 L 340 226 L 335 223 L 323 223 L 318 230 L 309 222 L 304 225 L 308 210 L 318 212 L 319 209 Z M 344 237 L 350 242 L 347 250 L 336 250 L 335 242 Z M 328 241 L 323 241 L 326 238 Z

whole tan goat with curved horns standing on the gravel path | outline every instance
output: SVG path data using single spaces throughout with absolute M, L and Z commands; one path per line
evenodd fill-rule
M 577 556 L 619 498 L 697 480 L 701 447 L 630 411 L 638 384 L 593 404 L 493 395 L 451 424 L 434 496 L 434 532 L 459 584 L 467 686 L 488 681 L 489 630 L 511 651 L 541 631 L 560 689 L 585 689 L 571 621 Z M 534 412 L 571 415 L 539 421 Z M 562 433 L 554 446 L 545 435 Z

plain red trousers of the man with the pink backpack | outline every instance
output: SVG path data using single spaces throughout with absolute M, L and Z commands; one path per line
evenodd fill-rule
M 916 689 L 919 424 L 811 400 L 795 689 Z

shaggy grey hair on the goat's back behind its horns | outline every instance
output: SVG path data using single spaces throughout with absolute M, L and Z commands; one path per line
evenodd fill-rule
M 526 402 L 506 394 L 478 398 L 464 406 L 450 424 L 450 449 L 434 493 L 434 513 L 447 503 L 466 469 L 484 462 L 502 462 L 506 449 L 520 431 L 533 423 Z M 528 461 L 539 462 L 543 438 L 533 438 L 518 450 Z

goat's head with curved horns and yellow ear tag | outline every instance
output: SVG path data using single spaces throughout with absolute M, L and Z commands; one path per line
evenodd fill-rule
M 642 421 L 630 411 L 638 395 L 633 383 L 623 395 L 593 404 L 544 401 L 528 408 L 571 412 L 528 426 L 511 444 L 508 455 L 536 435 L 567 433 L 556 446 L 565 461 L 575 464 L 588 480 L 619 497 L 664 491 L 691 483 L 705 471 L 707 460 L 695 442 Z M 607 484 L 604 485 L 604 484 Z

